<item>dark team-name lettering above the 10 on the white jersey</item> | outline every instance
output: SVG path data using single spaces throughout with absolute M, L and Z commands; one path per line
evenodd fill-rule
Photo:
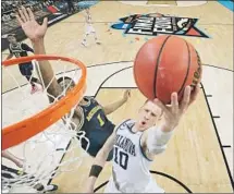
M 116 135 L 115 146 L 121 147 L 124 151 L 132 156 L 136 156 L 136 148 L 133 142 L 122 135 Z

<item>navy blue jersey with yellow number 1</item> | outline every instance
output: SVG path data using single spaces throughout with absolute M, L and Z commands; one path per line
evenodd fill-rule
M 89 140 L 88 153 L 96 156 L 99 149 L 103 146 L 108 137 L 114 130 L 114 124 L 107 118 L 102 107 L 93 97 L 84 97 L 86 105 L 79 105 L 83 111 L 81 131 L 85 131 L 86 137 Z M 82 141 L 82 146 L 85 148 L 87 143 Z M 108 160 L 111 159 L 111 154 Z

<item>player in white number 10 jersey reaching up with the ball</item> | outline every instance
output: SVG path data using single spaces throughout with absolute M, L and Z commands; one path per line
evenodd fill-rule
M 190 86 L 185 88 L 180 102 L 177 94 L 173 93 L 171 105 L 167 106 L 159 99 L 147 100 L 139 109 L 136 121 L 127 120 L 119 124 L 95 158 L 86 192 L 94 192 L 108 154 L 114 147 L 112 177 L 106 193 L 164 193 L 151 177 L 149 167 L 155 156 L 167 148 L 185 110 L 195 101 L 199 86 L 193 93 L 190 90 Z M 162 116 L 162 122 L 156 126 Z

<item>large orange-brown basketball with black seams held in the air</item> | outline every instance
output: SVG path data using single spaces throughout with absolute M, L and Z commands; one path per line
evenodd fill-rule
M 170 104 L 176 92 L 178 101 L 187 85 L 196 86 L 201 78 L 201 61 L 196 49 L 185 39 L 162 35 L 145 43 L 134 61 L 134 78 L 148 99 Z

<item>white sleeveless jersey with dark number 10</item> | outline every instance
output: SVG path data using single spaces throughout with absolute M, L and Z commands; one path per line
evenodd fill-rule
M 134 123 L 127 120 L 116 129 L 112 178 L 107 185 L 107 193 L 163 192 L 149 172 L 152 161 L 141 150 L 143 132 L 132 132 Z

